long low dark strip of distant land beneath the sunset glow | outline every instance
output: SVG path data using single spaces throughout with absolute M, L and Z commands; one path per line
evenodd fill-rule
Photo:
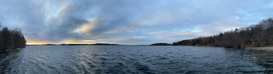
M 108 44 L 108 43 L 96 43 L 96 44 L 33 44 L 27 46 L 35 46 L 35 45 L 120 45 L 120 44 Z

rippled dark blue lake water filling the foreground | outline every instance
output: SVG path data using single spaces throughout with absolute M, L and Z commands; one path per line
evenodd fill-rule
M 273 51 L 223 47 L 77 45 L 0 51 L 0 74 L 273 73 Z

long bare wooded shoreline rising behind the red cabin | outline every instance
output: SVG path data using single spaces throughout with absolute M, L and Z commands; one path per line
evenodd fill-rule
M 239 29 L 220 33 L 208 37 L 199 37 L 195 39 L 186 39 L 174 42 L 173 45 L 205 45 L 215 47 L 244 47 L 251 39 L 258 39 L 259 46 L 273 45 L 273 19 L 268 18 L 249 27 L 240 27 Z

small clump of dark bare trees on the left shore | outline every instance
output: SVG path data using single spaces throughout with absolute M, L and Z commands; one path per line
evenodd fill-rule
M 8 29 L 0 22 L 0 50 L 26 46 L 26 40 L 19 28 Z

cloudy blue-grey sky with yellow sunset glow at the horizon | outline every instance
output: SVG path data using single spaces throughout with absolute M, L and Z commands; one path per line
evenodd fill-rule
M 0 0 L 27 43 L 148 45 L 218 35 L 272 18 L 272 0 Z

